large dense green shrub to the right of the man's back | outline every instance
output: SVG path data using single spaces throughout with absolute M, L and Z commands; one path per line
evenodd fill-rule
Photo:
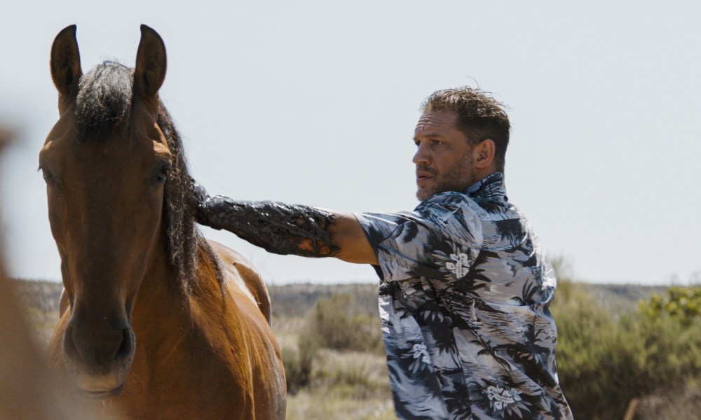
M 698 317 L 651 309 L 660 307 L 658 297 L 614 314 L 563 277 L 552 312 L 559 378 L 577 419 L 621 419 L 632 398 L 698 383 Z

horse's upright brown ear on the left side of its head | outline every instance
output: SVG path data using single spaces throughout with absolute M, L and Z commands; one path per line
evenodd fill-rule
M 82 74 L 76 25 L 71 25 L 60 31 L 51 45 L 51 78 L 61 97 L 76 96 Z

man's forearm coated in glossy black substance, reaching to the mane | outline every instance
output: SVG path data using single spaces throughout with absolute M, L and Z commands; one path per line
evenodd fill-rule
M 229 230 L 268 252 L 305 257 L 339 253 L 329 233 L 334 214 L 314 207 L 217 196 L 200 201 L 197 216 L 198 223 Z

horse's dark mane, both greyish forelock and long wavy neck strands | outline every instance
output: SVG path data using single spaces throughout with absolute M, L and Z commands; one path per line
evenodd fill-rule
M 114 130 L 129 130 L 133 69 L 118 62 L 98 64 L 81 76 L 76 99 L 76 134 L 79 141 L 97 139 Z M 165 182 L 163 229 L 170 262 L 186 291 L 197 289 L 198 253 L 204 251 L 215 267 L 219 286 L 224 275 L 212 248 L 195 224 L 195 194 L 185 160 L 182 139 L 170 113 L 160 102 L 158 127 L 172 154 Z

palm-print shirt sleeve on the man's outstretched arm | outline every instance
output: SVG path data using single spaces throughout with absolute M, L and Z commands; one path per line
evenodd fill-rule
M 479 207 L 459 193 L 437 195 L 397 213 L 356 213 L 383 281 L 462 279 L 482 246 Z

